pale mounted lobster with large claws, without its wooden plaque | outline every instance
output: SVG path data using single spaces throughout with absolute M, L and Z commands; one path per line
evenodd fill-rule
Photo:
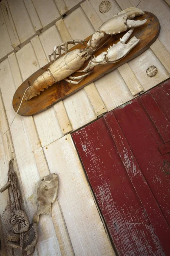
M 142 26 L 147 20 L 133 20 L 134 17 L 144 15 L 141 9 L 131 7 L 119 12 L 114 15 L 111 19 L 107 20 L 102 26 L 95 32 L 90 40 L 88 41 L 85 49 L 75 49 L 68 52 L 68 44 L 81 43 L 85 44 L 85 40 L 71 40 L 66 41 L 59 46 L 55 46 L 53 52 L 49 55 L 51 66 L 45 71 L 41 76 L 39 76 L 31 87 L 25 92 L 25 100 L 29 100 L 34 96 L 37 96 L 51 86 L 55 82 L 65 80 L 71 84 L 78 84 L 85 76 L 88 76 L 94 66 L 107 63 L 114 63 L 120 61 L 124 58 L 128 52 L 130 52 L 133 47 L 139 43 L 139 39 L 136 37 L 131 38 L 128 42 L 127 40 L 133 33 L 133 29 L 138 26 Z M 117 44 L 113 44 L 108 48 L 107 52 L 102 52 L 97 57 L 91 58 L 93 53 L 99 47 L 101 39 L 106 35 L 116 35 L 118 33 L 127 31 L 130 29 Z M 126 44 L 127 42 L 127 44 Z M 57 52 L 58 49 L 58 52 Z M 65 51 L 65 55 L 61 56 L 61 50 Z M 56 60 L 56 55 L 59 58 Z M 54 57 L 54 62 L 52 63 L 51 56 Z M 85 61 L 89 61 L 87 67 L 84 70 L 79 70 Z M 71 76 L 74 72 L 85 72 L 84 75 Z M 79 80 L 79 81 L 76 81 Z

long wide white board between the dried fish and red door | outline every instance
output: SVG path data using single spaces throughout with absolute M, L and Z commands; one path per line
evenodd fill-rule
M 59 175 L 59 203 L 75 255 L 114 255 L 71 135 L 44 148 L 50 172 Z

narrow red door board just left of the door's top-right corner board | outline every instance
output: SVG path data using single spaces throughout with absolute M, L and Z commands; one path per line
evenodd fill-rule
M 156 129 L 164 142 L 168 142 L 170 140 L 170 122 L 162 112 L 152 94 L 150 92 L 144 93 L 139 100 L 142 102 L 142 105 L 156 126 Z

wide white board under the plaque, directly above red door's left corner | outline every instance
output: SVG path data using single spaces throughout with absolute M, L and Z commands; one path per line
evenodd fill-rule
M 95 120 L 96 114 L 84 90 L 63 100 L 73 130 Z

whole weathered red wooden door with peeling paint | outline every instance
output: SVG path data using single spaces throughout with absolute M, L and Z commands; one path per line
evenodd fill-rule
M 119 255 L 170 255 L 170 80 L 72 136 Z

